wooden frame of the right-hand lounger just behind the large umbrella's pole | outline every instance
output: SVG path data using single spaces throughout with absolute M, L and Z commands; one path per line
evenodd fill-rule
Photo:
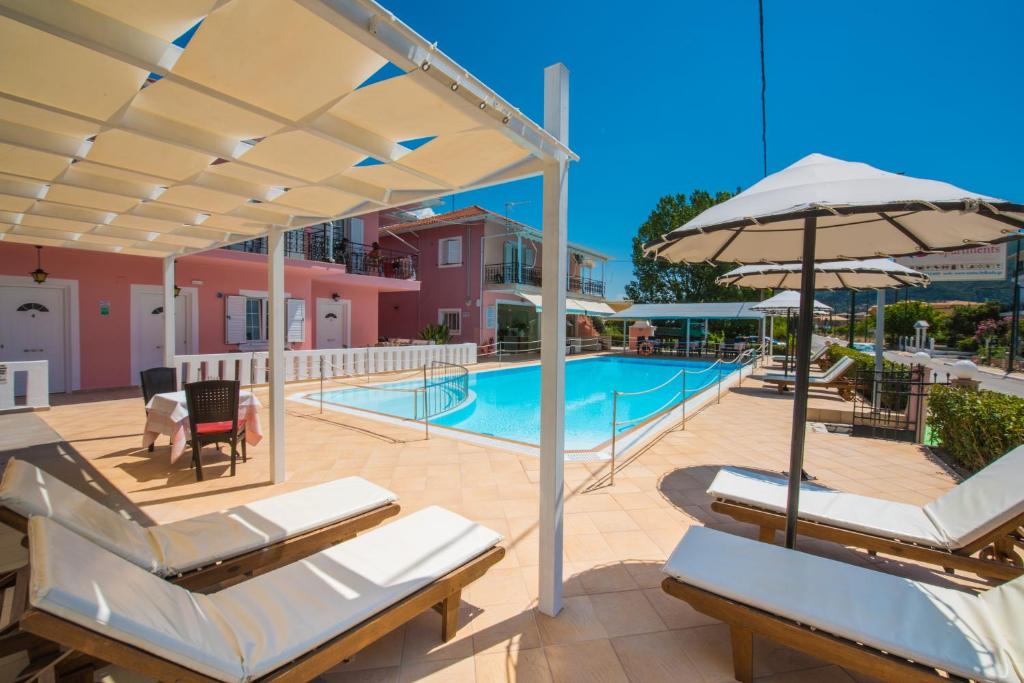
M 764 510 L 721 498 L 711 504 L 711 509 L 729 515 L 736 521 L 756 524 L 760 528 L 758 538 L 765 543 L 773 543 L 775 531 L 785 529 L 785 515 L 773 510 Z M 1021 525 L 1024 525 L 1024 514 L 1014 517 L 977 541 L 954 551 L 887 539 L 809 519 L 797 521 L 797 533 L 844 546 L 863 548 L 871 554 L 884 553 L 934 564 L 946 571 L 962 569 L 987 579 L 1012 581 L 1024 575 L 1024 564 L 1014 551 L 1016 535 Z M 979 551 L 984 551 L 982 557 L 973 557 Z

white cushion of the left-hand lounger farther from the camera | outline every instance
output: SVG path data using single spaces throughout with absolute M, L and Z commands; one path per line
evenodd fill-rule
M 170 524 L 142 526 L 19 460 L 7 462 L 0 482 L 0 505 L 24 517 L 51 517 L 164 577 L 334 524 L 397 499 L 361 477 L 346 477 Z

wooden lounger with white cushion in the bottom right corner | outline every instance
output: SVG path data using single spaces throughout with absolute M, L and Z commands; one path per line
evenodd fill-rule
M 1024 579 L 979 596 L 701 526 L 663 571 L 666 593 L 729 626 L 744 683 L 754 635 L 886 681 L 1022 680 Z

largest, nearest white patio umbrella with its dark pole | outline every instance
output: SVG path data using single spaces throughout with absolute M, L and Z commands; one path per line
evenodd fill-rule
M 809 155 L 645 245 L 687 263 L 804 264 L 790 447 L 785 545 L 793 548 L 804 464 L 816 261 L 904 256 L 1004 242 L 1024 205 L 867 164 Z

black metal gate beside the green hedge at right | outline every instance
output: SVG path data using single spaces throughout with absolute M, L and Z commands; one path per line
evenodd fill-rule
M 856 374 L 853 435 L 920 442 L 928 417 L 928 394 L 943 378 L 924 366 Z

